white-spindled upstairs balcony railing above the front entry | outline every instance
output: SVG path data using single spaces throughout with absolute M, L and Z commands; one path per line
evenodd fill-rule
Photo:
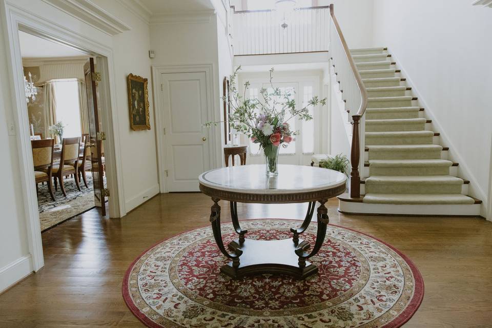
M 234 11 L 234 55 L 328 51 L 329 6 L 294 10 L 282 23 L 276 11 Z

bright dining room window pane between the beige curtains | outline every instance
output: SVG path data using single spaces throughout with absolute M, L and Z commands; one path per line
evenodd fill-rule
M 77 81 L 55 82 L 56 120 L 65 126 L 63 137 L 79 137 L 80 108 Z

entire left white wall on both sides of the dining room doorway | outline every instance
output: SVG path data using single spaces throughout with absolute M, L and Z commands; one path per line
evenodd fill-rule
M 24 13 L 32 13 L 46 24 L 63 27 L 73 35 L 82 35 L 91 39 L 94 45 L 112 48 L 114 55 L 113 71 L 115 90 L 114 95 L 118 108 L 118 130 L 120 134 L 119 147 L 122 161 L 122 186 L 124 186 L 127 210 L 144 201 L 158 191 L 156 188 L 157 170 L 155 156 L 154 128 L 150 131 L 130 131 L 129 110 L 126 89 L 126 75 L 130 72 L 150 78 L 150 59 L 147 51 L 150 48 L 149 29 L 145 22 L 127 12 L 116 2 L 104 0 L 95 1 L 108 12 L 131 26 L 131 31 L 111 37 L 75 17 L 63 13 L 41 0 L 15 0 L 11 4 Z M 0 0 L 2 10 L 0 20 L 2 34 L 0 35 L 0 71 L 2 76 L 10 76 L 10 45 L 6 33 L 5 1 Z M 50 23 L 51 22 L 51 23 Z M 5 32 L 5 33 L 4 33 Z M 150 86 L 149 86 L 150 87 Z M 152 106 L 152 89 L 149 90 L 149 100 Z M 0 291 L 7 288 L 18 279 L 33 270 L 27 240 L 27 222 L 24 212 L 23 190 L 20 186 L 19 170 L 19 127 L 16 126 L 16 104 L 13 86 L 10 78 L 0 81 L 0 152 L 4 160 L 0 161 L 4 179 L 2 181 L 2 229 L 0 229 Z M 151 109 L 151 124 L 153 115 Z M 14 134 L 8 134 L 8 128 L 14 127 Z M 23 127 L 20 127 L 23 128 Z M 27 129 L 27 127 L 26 127 Z M 34 185 L 33 185 L 34 188 Z M 147 199 L 147 198 L 146 198 Z

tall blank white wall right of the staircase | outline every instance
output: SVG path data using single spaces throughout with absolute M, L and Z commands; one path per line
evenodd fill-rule
M 471 181 L 471 194 L 487 202 L 492 9 L 462 0 L 376 0 L 374 6 L 374 45 L 394 54 L 460 174 Z

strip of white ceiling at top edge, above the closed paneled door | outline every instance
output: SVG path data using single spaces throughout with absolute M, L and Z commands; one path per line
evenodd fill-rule
M 152 14 L 214 9 L 211 0 L 139 0 Z

